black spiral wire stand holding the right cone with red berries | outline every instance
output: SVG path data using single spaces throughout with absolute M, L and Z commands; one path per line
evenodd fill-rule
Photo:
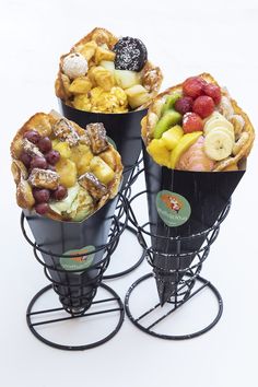
M 141 191 L 133 196 L 130 199 L 130 204 L 132 204 L 132 202 L 136 201 L 137 198 L 145 194 L 146 191 Z M 150 232 L 150 222 L 146 222 L 143 225 L 139 225 L 137 218 L 133 213 L 132 206 L 129 207 L 129 220 L 134 225 L 134 227 L 138 228 L 138 241 L 144 248 L 145 258 L 153 269 L 152 273 L 145 274 L 138 279 L 129 288 L 126 294 L 126 314 L 136 327 L 138 327 L 145 333 L 154 336 L 156 338 L 166 340 L 185 340 L 198 337 L 209 331 L 212 327 L 216 325 L 223 312 L 222 297 L 216 288 L 210 281 L 203 279 L 199 274 L 202 269 L 202 265 L 210 253 L 210 247 L 219 235 L 220 225 L 228 214 L 230 208 L 231 202 L 226 204 L 213 226 L 204 230 L 201 233 L 186 237 L 169 237 L 152 234 Z M 203 241 L 201 246 L 198 249 L 189 250 L 189 246 L 191 246 L 191 244 L 192 246 L 197 246 L 197 241 L 200 238 L 201 241 Z M 160 244 L 153 244 L 149 242 L 151 239 L 160 239 Z M 161 246 L 161 243 L 166 246 L 166 250 L 163 250 L 162 253 L 156 249 L 156 246 Z M 184 246 L 187 246 L 187 253 L 186 249 L 184 250 Z M 157 255 L 160 257 L 162 256 L 162 258 L 167 259 L 167 261 L 169 261 L 167 269 L 164 268 L 164 265 L 162 267 L 159 265 L 157 259 L 155 259 Z M 134 292 L 140 291 L 140 284 L 148 280 L 153 281 L 153 279 L 155 279 L 157 286 L 159 283 L 162 283 L 162 281 L 169 281 L 169 279 L 173 281 L 172 286 L 174 288 L 169 301 L 163 303 L 160 300 L 155 302 L 153 306 L 148 309 L 144 309 L 140 314 L 132 313 L 132 294 L 134 295 Z M 164 333 L 162 331 L 164 327 L 163 324 L 167 321 L 172 322 L 173 320 L 169 320 L 169 318 L 172 318 L 173 314 L 175 314 L 178 309 L 183 308 L 183 306 L 188 304 L 190 300 L 192 300 L 195 296 L 197 296 L 204 290 L 209 291 L 209 296 L 211 295 L 215 300 L 218 305 L 218 313 L 212 319 L 212 321 L 206 325 L 203 328 L 195 330 L 194 332 L 187 332 L 184 335 L 175 335 L 173 332 Z M 137 300 L 139 300 L 139 293 Z M 163 306 L 165 306 L 165 308 L 163 308 Z M 136 314 L 138 315 L 136 316 Z M 159 317 L 156 317 L 157 315 Z

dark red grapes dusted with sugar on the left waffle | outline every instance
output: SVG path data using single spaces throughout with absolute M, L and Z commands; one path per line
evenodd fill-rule
M 37 145 L 39 151 L 44 154 L 43 156 L 31 156 L 25 151 L 21 153 L 20 160 L 27 167 L 28 172 L 33 168 L 50 169 L 56 172 L 55 165 L 60 160 L 60 153 L 52 149 L 51 140 L 48 137 L 40 137 L 36 130 L 26 131 L 23 138 Z M 36 212 L 44 215 L 49 210 L 48 202 L 50 199 L 62 200 L 66 196 L 67 188 L 62 185 L 59 185 L 55 190 L 33 188 L 33 197 L 36 201 Z

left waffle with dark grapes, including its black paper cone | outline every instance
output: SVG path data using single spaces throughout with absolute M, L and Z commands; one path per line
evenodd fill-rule
M 11 155 L 16 201 L 54 289 L 64 308 L 85 309 L 102 279 L 101 246 L 117 204 L 120 155 L 102 124 L 83 130 L 55 112 L 31 117 L 14 137 Z

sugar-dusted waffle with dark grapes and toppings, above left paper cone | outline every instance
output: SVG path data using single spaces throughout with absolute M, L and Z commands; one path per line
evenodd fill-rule
M 37 113 L 11 144 L 17 204 L 60 221 L 83 221 L 116 196 L 122 165 L 102 124 L 86 130 Z

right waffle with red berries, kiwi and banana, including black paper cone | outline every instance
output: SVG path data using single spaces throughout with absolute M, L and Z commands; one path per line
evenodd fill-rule
M 160 94 L 142 119 L 152 234 L 169 239 L 209 230 L 245 173 L 254 138 L 248 116 L 210 74 L 189 78 Z M 175 206 L 175 199 L 183 206 Z M 173 247 L 152 237 L 162 303 L 175 293 L 204 241 L 204 234 L 183 239 L 185 258 L 178 266 L 169 257 L 176 253 Z

